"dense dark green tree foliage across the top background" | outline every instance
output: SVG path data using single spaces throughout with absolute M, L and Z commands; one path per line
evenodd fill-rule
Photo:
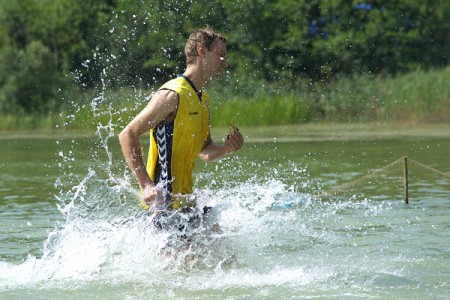
M 448 20 L 448 0 L 1 0 L 0 111 L 54 111 L 73 87 L 158 85 L 205 25 L 229 37 L 241 87 L 445 66 Z

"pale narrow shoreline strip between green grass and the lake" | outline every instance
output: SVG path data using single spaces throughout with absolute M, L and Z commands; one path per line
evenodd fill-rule
M 399 123 L 307 123 L 295 125 L 274 125 L 240 127 L 247 142 L 295 142 L 295 141 L 342 141 L 376 140 L 388 138 L 450 138 L 450 123 L 441 124 L 399 124 Z M 229 131 L 227 127 L 213 127 L 213 139 L 220 142 Z M 71 129 L 1 131 L 2 139 L 44 139 L 44 138 L 90 138 L 95 131 Z

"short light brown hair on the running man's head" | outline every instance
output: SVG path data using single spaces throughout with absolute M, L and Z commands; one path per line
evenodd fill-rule
M 192 64 L 197 60 L 197 46 L 202 45 L 207 50 L 212 50 L 212 45 L 216 41 L 221 41 L 226 44 L 228 39 L 225 36 L 214 32 L 214 30 L 210 27 L 192 32 L 184 48 L 184 53 L 186 54 L 186 64 Z

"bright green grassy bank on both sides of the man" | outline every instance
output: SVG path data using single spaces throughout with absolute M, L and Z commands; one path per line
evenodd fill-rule
M 150 90 L 91 91 L 75 96 L 48 115 L 0 113 L 0 130 L 93 130 L 98 124 L 123 127 L 147 103 Z M 74 94 L 72 94 L 74 95 Z M 213 127 L 310 122 L 450 122 L 450 67 L 397 77 L 360 76 L 310 84 L 227 80 L 212 85 Z M 67 96 L 66 96 L 67 99 Z

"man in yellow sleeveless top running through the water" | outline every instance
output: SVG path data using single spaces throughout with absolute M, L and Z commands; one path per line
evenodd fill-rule
M 225 143 L 210 134 L 210 100 L 205 86 L 228 66 L 227 39 L 210 28 L 193 32 L 185 46 L 187 68 L 162 85 L 119 135 L 125 159 L 143 191 L 147 209 L 177 210 L 195 205 L 195 160 L 219 159 L 239 150 L 244 139 L 233 127 Z M 139 136 L 150 131 L 145 167 Z

